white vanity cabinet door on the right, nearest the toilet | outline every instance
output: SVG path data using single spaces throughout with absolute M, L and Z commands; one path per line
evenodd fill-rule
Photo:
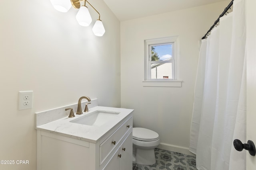
M 132 170 L 132 132 L 121 144 L 120 154 L 120 170 Z

